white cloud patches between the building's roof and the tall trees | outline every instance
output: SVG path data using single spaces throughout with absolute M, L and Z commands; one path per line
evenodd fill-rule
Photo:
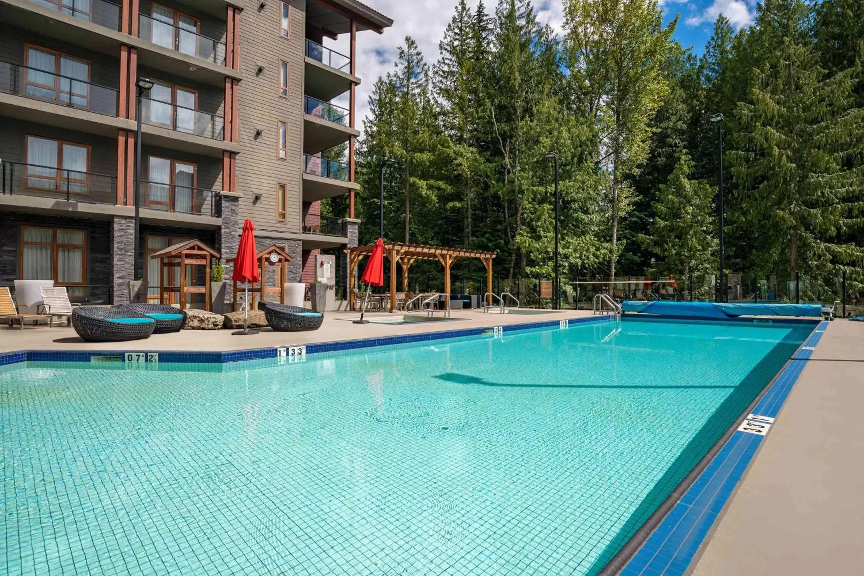
M 476 9 L 479 0 L 467 0 L 470 9 Z M 369 94 L 378 76 L 393 68 L 397 47 L 403 46 L 405 36 L 411 36 L 426 58 L 429 66 L 438 59 L 438 43 L 444 36 L 444 28 L 453 17 L 458 0 L 364 0 L 364 3 L 393 19 L 393 26 L 384 29 L 383 35 L 365 30 L 357 35 L 357 75 L 362 83 L 357 88 L 357 128 L 363 130 L 363 118 L 369 111 Z M 485 0 L 487 11 L 493 11 L 496 0 Z M 557 32 L 561 31 L 564 13 L 561 0 L 537 0 L 537 17 L 549 23 Z M 348 54 L 349 38 L 342 35 L 337 41 L 325 40 L 327 47 Z M 346 105 L 347 96 L 334 104 Z

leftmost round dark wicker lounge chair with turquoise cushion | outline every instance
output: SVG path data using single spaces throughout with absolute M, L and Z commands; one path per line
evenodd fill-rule
M 72 327 L 87 342 L 122 342 L 147 338 L 156 320 L 133 310 L 79 306 L 72 310 Z

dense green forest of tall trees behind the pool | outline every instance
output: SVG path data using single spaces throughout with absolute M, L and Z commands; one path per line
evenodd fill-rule
M 459 0 L 435 62 L 404 39 L 358 144 L 360 244 L 378 237 L 387 160 L 385 240 L 496 250 L 496 276 L 550 278 L 553 152 L 563 282 L 717 274 L 722 173 L 727 275 L 860 288 L 862 0 L 766 0 L 737 33 L 719 16 L 698 57 L 656 0 L 562 2 L 560 34 L 530 0 Z M 480 278 L 463 264 L 454 282 Z

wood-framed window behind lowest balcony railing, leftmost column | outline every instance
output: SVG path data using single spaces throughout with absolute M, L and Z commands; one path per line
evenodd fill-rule
M 90 147 L 27 136 L 27 187 L 52 192 L 90 193 Z

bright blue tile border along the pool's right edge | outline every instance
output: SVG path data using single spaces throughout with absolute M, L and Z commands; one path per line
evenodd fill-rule
M 822 339 L 822 320 L 775 378 L 753 415 L 774 418 L 789 396 L 804 366 Z M 770 430 L 768 431 L 770 434 Z M 708 531 L 746 472 L 765 436 L 736 430 L 689 486 L 658 527 L 618 572 L 619 576 L 683 576 Z

